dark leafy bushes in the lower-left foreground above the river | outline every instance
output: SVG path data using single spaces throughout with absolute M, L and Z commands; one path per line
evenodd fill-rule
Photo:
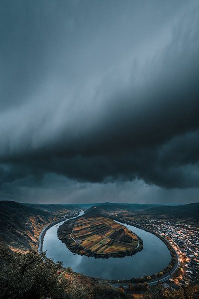
M 14 253 L 0 244 L 0 299 L 127 299 L 122 291 L 63 270 L 36 251 Z M 132 298 L 132 297 L 131 297 Z

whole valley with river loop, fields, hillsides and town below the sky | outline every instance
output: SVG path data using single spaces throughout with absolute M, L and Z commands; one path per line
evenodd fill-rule
M 78 277 L 87 286 L 93 280 L 105 289 L 124 289 L 125 294 L 140 294 L 147 288 L 156 292 L 160 283 L 169 290 L 198 286 L 198 203 L 102 203 L 87 208 L 1 201 L 0 245 L 33 254 L 35 260 L 40 244 L 46 262 L 63 262 L 58 272 L 67 279 Z M 1 248 L 3 255 L 7 251 Z M 9 258 L 4 265 L 11 267 Z

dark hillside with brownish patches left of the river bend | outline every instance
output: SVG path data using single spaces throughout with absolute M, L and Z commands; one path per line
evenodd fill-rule
M 36 206 L 0 201 L 0 241 L 22 250 L 37 248 L 42 228 L 73 208 L 41 205 L 42 208 L 37 209 Z

